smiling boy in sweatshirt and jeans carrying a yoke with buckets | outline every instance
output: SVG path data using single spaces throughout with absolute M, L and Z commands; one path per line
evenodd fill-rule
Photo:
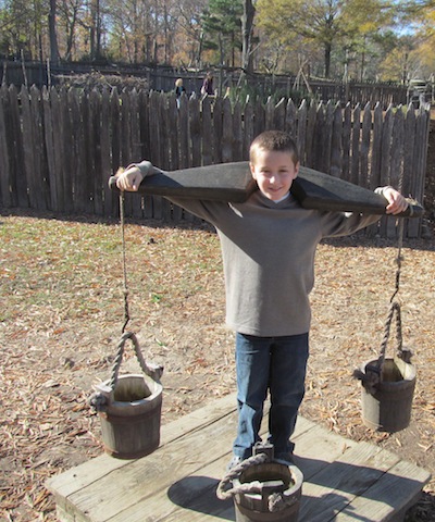
M 268 130 L 250 147 L 250 170 L 259 190 L 244 203 L 170 198 L 212 223 L 221 240 L 226 323 L 236 332 L 238 428 L 228 469 L 251 456 L 260 440 L 263 403 L 270 391 L 269 442 L 275 460 L 289 464 L 299 406 L 304 395 L 314 254 L 324 237 L 352 234 L 378 216 L 302 209 L 289 192 L 299 157 L 285 133 Z M 136 190 L 150 162 L 130 165 L 117 178 Z M 394 188 L 376 189 L 386 212 L 408 207 Z

